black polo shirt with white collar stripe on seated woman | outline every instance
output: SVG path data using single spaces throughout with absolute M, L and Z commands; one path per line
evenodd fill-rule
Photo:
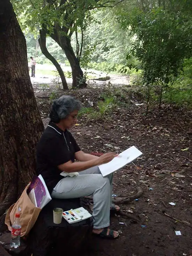
M 36 161 L 37 174 L 42 175 L 50 193 L 64 178 L 57 166 L 69 160 L 74 162 L 75 152 L 80 150 L 71 132 L 49 123 L 37 144 Z

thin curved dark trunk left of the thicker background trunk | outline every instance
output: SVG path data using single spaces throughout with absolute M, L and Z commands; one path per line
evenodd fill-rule
M 62 81 L 62 86 L 64 88 L 64 90 L 68 89 L 67 86 L 67 81 L 65 79 L 65 75 L 64 72 L 62 71 L 61 66 L 59 65 L 59 63 L 57 62 L 57 60 L 49 53 L 49 51 L 47 50 L 46 47 L 46 31 L 45 30 L 39 30 L 39 45 L 40 45 L 40 49 L 42 51 L 42 53 L 45 55 L 45 57 L 49 60 L 51 60 L 51 62 L 53 63 L 53 65 L 57 68 L 57 71 L 59 72 L 61 81 Z

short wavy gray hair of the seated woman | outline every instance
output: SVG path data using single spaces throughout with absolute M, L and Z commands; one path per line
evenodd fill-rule
M 63 95 L 53 101 L 51 105 L 50 115 L 51 122 L 59 123 L 61 119 L 65 119 L 72 111 L 81 109 L 81 102 L 70 95 Z

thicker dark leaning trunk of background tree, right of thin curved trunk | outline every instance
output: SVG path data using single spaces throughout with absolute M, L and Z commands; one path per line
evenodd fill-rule
M 83 71 L 81 70 L 79 61 L 76 58 L 73 48 L 71 46 L 71 39 L 67 36 L 60 36 L 58 28 L 54 29 L 54 34 L 52 34 L 51 37 L 59 44 L 59 46 L 65 52 L 65 55 L 70 63 L 73 78 L 72 88 L 86 87 L 86 79 L 83 76 Z

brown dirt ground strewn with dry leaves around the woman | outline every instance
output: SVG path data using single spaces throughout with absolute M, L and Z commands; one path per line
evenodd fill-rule
M 103 87 L 64 93 L 54 86 L 42 90 L 36 83 L 34 92 L 46 126 L 53 92 L 55 96 L 72 94 L 85 105 L 88 100 L 97 105 Z M 128 93 L 122 104 L 103 120 L 88 120 L 85 115 L 71 130 L 86 153 L 120 153 L 132 145 L 143 153 L 134 163 L 114 174 L 113 184 L 116 198 L 133 195 L 138 186 L 143 189 L 138 200 L 120 205 L 121 210 L 132 212 L 130 214 L 140 221 L 135 223 L 132 219 L 112 216 L 111 227 L 120 231 L 120 237 L 116 240 L 94 238 L 92 251 L 87 255 L 192 255 L 192 111 L 162 105 L 161 109 L 150 107 L 145 116 L 145 108 L 139 94 Z M 175 205 L 169 204 L 171 202 Z M 176 235 L 176 231 L 181 235 Z

